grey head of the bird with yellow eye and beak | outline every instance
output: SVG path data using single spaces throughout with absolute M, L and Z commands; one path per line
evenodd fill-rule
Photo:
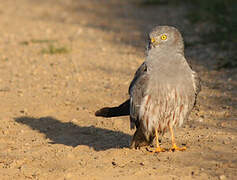
M 148 35 L 147 50 L 165 50 L 183 53 L 184 44 L 180 32 L 172 26 L 156 26 Z

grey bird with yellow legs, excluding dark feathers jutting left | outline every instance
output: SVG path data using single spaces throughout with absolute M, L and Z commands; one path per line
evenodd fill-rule
M 184 151 L 175 141 L 174 128 L 182 126 L 196 104 L 200 78 L 184 55 L 183 37 L 173 26 L 156 26 L 148 34 L 146 58 L 129 86 L 130 128 L 136 127 L 130 147 L 150 144 L 163 152 L 159 136 L 171 134 L 172 151 Z

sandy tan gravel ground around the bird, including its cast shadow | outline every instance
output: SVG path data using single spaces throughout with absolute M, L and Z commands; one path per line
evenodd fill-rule
M 216 70 L 228 52 L 195 43 L 205 27 L 191 25 L 187 11 L 1 0 L 0 179 L 237 179 L 237 70 Z M 177 129 L 185 152 L 131 150 L 128 117 L 94 116 L 126 100 L 145 33 L 157 24 L 176 25 L 193 44 L 186 55 L 203 81 L 197 108 Z

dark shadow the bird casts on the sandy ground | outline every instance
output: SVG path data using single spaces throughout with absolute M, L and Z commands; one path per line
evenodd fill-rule
M 61 122 L 53 117 L 34 118 L 22 116 L 15 121 L 46 135 L 52 144 L 76 147 L 86 145 L 96 151 L 129 147 L 131 136 L 95 126 L 82 127 L 73 122 Z

